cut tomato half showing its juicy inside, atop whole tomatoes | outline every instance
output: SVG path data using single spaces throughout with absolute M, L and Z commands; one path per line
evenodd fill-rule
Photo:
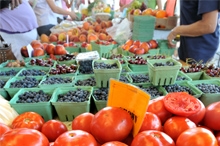
M 165 108 L 178 116 L 188 117 L 201 109 L 199 101 L 187 92 L 168 93 L 163 101 Z

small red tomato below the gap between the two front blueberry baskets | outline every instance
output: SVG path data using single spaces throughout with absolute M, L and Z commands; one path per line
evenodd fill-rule
M 53 142 L 64 132 L 68 131 L 66 125 L 58 120 L 49 120 L 43 124 L 41 132 Z

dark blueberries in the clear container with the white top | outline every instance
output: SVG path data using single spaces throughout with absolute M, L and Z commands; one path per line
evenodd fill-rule
M 92 61 L 93 60 L 82 60 L 79 61 L 79 73 L 80 74 L 92 74 Z

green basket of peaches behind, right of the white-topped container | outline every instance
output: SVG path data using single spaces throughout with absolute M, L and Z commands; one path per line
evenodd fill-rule
M 99 45 L 95 42 L 91 42 L 92 50 L 97 51 L 100 57 L 108 58 L 111 55 L 111 50 L 114 49 L 114 44 L 110 45 Z

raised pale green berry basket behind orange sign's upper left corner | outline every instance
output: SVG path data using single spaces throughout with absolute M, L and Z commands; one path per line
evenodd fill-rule
M 116 63 L 118 68 L 116 69 L 95 69 L 94 64 L 105 63 L 105 64 L 114 64 Z M 109 79 L 119 79 L 121 74 L 121 63 L 118 60 L 93 60 L 92 68 L 95 74 L 96 86 L 97 87 L 108 87 Z

